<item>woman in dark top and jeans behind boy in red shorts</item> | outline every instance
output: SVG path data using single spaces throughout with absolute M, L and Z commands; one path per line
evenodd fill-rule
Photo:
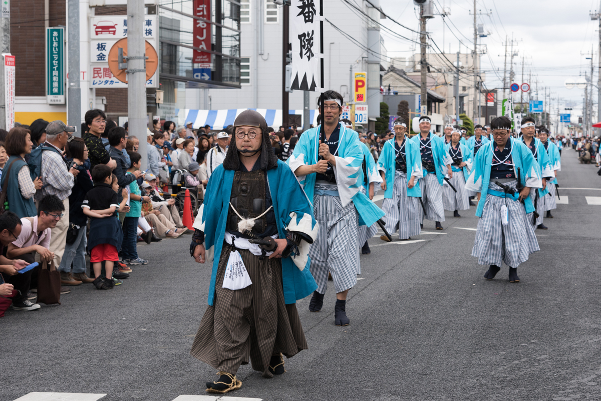
M 82 283 L 93 283 L 94 279 L 85 274 L 85 249 L 88 245 L 86 238 L 86 226 L 88 217 L 85 216 L 81 205 L 84 202 L 85 194 L 94 187 L 90 177 L 90 160 L 88 159 L 88 147 L 83 139 L 73 137 L 67 143 L 67 160 L 79 170 L 75 179 L 75 185 L 69 195 L 69 229 L 67 230 L 67 240 L 65 252 L 58 271 L 61 276 L 68 276 L 73 264 L 73 279 Z

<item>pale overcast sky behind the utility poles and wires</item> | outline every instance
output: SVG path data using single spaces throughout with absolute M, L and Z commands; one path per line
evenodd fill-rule
M 450 9 L 450 15 L 445 17 L 448 26 L 445 26 L 441 16 L 429 19 L 427 31 L 433 40 L 445 52 L 462 53 L 471 52 L 474 47 L 474 17 L 471 14 L 474 8 L 473 0 L 435 0 L 438 10 Z M 380 7 L 384 13 L 396 19 L 403 25 L 418 31 L 418 7 L 412 0 L 380 0 Z M 566 104 L 574 107 L 572 116 L 581 114 L 584 89 L 566 89 L 564 82 L 569 77 L 590 74 L 591 47 L 594 50 L 594 77 L 593 83 L 597 84 L 597 66 L 599 64 L 599 22 L 592 21 L 590 11 L 599 10 L 597 0 L 477 0 L 478 23 L 484 24 L 484 31 L 489 32 L 486 38 L 479 38 L 481 44 L 486 45 L 486 54 L 481 56 L 481 69 L 486 73 L 487 88 L 502 86 L 505 35 L 514 40 L 514 82 L 522 83 L 522 56 L 525 57 L 524 82 L 528 82 L 528 73 L 532 72 L 531 86 L 534 89 L 538 80 L 540 100 L 543 97 L 544 87 L 551 91 L 553 113 L 557 113 L 557 98 L 560 100 L 560 109 Z M 380 20 L 393 31 L 413 40 L 418 39 L 418 34 L 411 32 L 390 20 Z M 449 28 L 450 27 L 450 28 Z M 385 32 L 388 55 L 410 56 L 419 52 L 419 46 L 410 41 L 403 40 Z M 444 37 L 444 39 L 443 39 Z M 459 38 L 459 39 L 458 39 Z M 462 45 L 459 44 L 462 41 Z M 466 46 L 469 50 L 466 50 Z M 480 48 L 480 46 L 478 46 Z M 432 50 L 429 50 L 432 52 Z M 509 53 L 509 52 L 508 52 Z M 586 53 L 586 54 L 584 54 Z M 508 67 L 509 70 L 509 54 Z M 496 73 L 495 73 L 496 72 Z M 597 91 L 594 91 L 597 98 Z M 518 100 L 519 101 L 519 98 Z M 596 106 L 594 106 L 596 109 Z M 545 107 L 547 110 L 547 107 Z

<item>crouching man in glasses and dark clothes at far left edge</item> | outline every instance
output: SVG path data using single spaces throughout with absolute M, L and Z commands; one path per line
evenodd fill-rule
M 11 289 L 11 286 L 17 290 L 17 295 L 13 298 L 12 307 L 14 310 L 37 310 L 40 305 L 34 304 L 27 299 L 29 285 L 31 283 L 31 275 L 33 270 L 25 273 L 17 273 L 22 268 L 29 265 L 28 262 L 22 259 L 10 259 L 2 256 L 4 247 L 9 246 L 12 241 L 18 240 L 21 234 L 21 220 L 19 216 L 13 212 L 6 211 L 0 215 L 0 273 L 6 284 L 0 286 L 6 296 L 6 292 Z

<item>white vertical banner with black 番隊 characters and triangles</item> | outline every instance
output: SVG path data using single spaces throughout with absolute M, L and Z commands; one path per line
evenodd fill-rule
M 291 0 L 292 89 L 323 88 L 323 0 Z

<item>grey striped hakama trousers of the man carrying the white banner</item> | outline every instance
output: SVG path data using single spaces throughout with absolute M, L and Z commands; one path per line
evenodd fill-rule
M 332 273 L 336 292 L 343 292 L 356 285 L 357 274 L 361 272 L 359 217 L 353 202 L 343 208 L 340 197 L 317 193 L 318 190 L 336 191 L 336 185 L 316 184 L 315 188 L 313 214 L 319 223 L 319 232 L 309 250 L 311 274 L 320 294 L 328 289 L 328 271 Z

